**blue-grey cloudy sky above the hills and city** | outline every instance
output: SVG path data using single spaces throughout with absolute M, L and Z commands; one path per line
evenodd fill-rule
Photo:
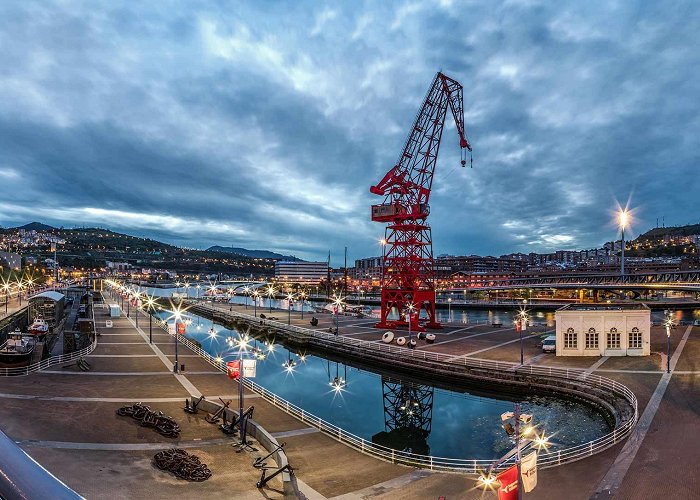
M 598 247 L 628 199 L 633 234 L 700 220 L 693 1 L 118 3 L 0 3 L 0 225 L 375 254 L 438 70 L 474 168 L 448 123 L 435 254 Z

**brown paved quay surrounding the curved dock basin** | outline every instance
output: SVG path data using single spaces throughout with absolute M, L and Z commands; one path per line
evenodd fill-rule
M 207 303 L 219 314 L 251 315 L 252 306 Z M 258 308 L 258 313 L 286 323 L 310 328 L 312 315 Z M 131 315 L 133 316 L 133 309 Z M 185 371 L 176 375 L 173 337 L 154 328 L 148 343 L 148 321 L 142 315 L 140 329 L 133 318 L 109 318 L 96 308 L 97 347 L 85 359 L 92 370 L 54 366 L 23 377 L 0 380 L 0 429 L 40 464 L 86 498 L 283 498 L 279 476 L 266 488 L 255 483 L 260 473 L 252 467 L 258 452 L 236 453 L 236 437 L 225 436 L 204 415 L 183 412 L 187 397 L 205 395 L 216 402 L 221 396 L 237 407 L 238 385 L 183 344 L 180 360 Z M 315 314 L 316 328 L 334 328 L 330 314 Z M 339 318 L 339 335 L 378 341 L 381 330 L 371 318 Z M 685 498 L 700 487 L 694 473 L 700 461 L 695 429 L 700 425 L 700 328 L 679 327 L 672 341 L 672 370 L 665 375 L 666 336 L 653 327 L 652 355 L 648 358 L 556 358 L 543 355 L 539 338 L 544 327 L 524 336 L 526 365 L 571 367 L 603 375 L 629 387 L 636 395 L 640 422 L 630 438 L 601 453 L 538 472 L 537 488 L 528 498 Z M 442 353 L 515 363 L 520 348 L 513 328 L 492 325 L 448 325 L 432 345 L 417 351 Z M 300 495 L 307 498 L 423 499 L 489 498 L 475 489 L 473 476 L 413 469 L 378 460 L 326 436 L 274 405 L 245 391 L 246 406 L 253 404 L 253 420 L 279 442 L 295 470 Z M 180 438 L 163 438 L 152 429 L 118 417 L 120 406 L 143 402 L 172 416 L 181 426 Z M 201 413 L 201 412 L 200 412 Z M 459 436 L 455 436 L 459 439 Z M 631 446 L 633 445 L 633 446 Z M 151 465 L 153 455 L 171 447 L 186 448 L 211 469 L 202 483 L 177 480 Z M 683 478 L 679 480 L 679 478 Z

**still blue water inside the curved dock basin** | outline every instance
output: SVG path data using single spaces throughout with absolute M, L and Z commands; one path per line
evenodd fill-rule
M 167 318 L 167 313 L 161 314 Z M 224 360 L 238 357 L 237 351 L 229 349 L 226 342 L 228 337 L 237 336 L 236 332 L 197 315 L 191 315 L 190 319 L 187 336 L 199 341 L 204 350 Z M 216 331 L 213 337 L 208 333 L 212 327 Z M 365 439 L 374 438 L 396 449 L 450 458 L 498 458 L 512 448 L 500 419 L 501 413 L 513 410 L 510 401 L 428 384 L 396 381 L 383 386 L 382 376 L 377 373 L 317 356 L 306 355 L 302 360 L 303 353 L 291 352 L 283 345 L 274 345 L 269 351 L 262 341 L 256 340 L 253 347 L 268 353 L 265 360 L 258 361 L 255 382 Z M 289 360 L 295 365 L 291 371 L 283 366 Z M 331 387 L 336 377 L 345 382 L 339 393 Z M 385 422 L 383 391 L 390 390 L 398 395 L 397 407 L 408 403 L 409 408 L 426 416 L 420 427 L 422 431 L 416 429 L 414 420 L 414 425 L 398 423 L 399 430 L 387 433 L 394 425 Z M 432 407 L 419 403 L 431 397 Z M 557 445 L 583 443 L 609 431 L 602 416 L 585 405 L 551 397 L 528 397 L 522 403 L 522 411 L 534 414 L 536 423 L 548 434 L 554 434 L 552 441 Z M 404 418 L 410 422 L 414 417 Z

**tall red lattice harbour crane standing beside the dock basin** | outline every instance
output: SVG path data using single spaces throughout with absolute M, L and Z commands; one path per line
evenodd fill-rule
M 372 205 L 372 220 L 387 223 L 377 328 L 408 326 L 408 316 L 411 327 L 422 330 L 418 323 L 421 310 L 425 311 L 426 327 L 441 327 L 435 320 L 433 239 L 426 219 L 448 107 L 457 125 L 463 167 L 465 149 L 472 150 L 464 133 L 463 106 L 459 82 L 442 73 L 435 75 L 396 165 L 370 188 L 371 193 L 384 196 L 382 204 Z

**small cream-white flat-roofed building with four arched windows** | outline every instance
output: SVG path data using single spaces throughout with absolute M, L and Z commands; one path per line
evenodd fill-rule
M 569 304 L 554 313 L 557 356 L 648 356 L 644 304 Z

